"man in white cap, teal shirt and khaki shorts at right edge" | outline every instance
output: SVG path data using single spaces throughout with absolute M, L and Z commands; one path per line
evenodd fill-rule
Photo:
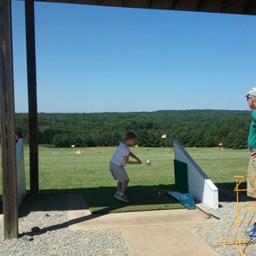
M 248 148 L 251 151 L 251 158 L 247 172 L 247 195 L 256 198 L 256 87 L 248 91 L 247 102 L 249 108 L 253 110 L 253 120 L 248 136 Z

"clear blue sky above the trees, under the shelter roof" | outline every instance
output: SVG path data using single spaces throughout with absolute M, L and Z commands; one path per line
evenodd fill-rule
M 39 112 L 247 109 L 256 16 L 36 3 Z M 27 112 L 24 3 L 15 109 Z

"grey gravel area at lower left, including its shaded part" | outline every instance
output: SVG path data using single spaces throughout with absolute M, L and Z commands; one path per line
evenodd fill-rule
M 67 196 L 26 198 L 20 207 L 20 238 L 3 240 L 0 219 L 0 255 L 130 255 L 120 230 L 68 230 Z

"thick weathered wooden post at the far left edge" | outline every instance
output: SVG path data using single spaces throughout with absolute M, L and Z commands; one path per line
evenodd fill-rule
M 18 237 L 15 99 L 11 1 L 0 0 L 0 106 L 3 166 L 3 233 Z

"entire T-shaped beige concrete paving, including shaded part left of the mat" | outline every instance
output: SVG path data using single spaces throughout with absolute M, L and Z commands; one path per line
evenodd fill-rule
M 218 222 L 199 210 L 185 209 L 92 215 L 79 194 L 67 195 L 70 230 L 119 229 L 134 256 L 218 255 L 188 226 Z

